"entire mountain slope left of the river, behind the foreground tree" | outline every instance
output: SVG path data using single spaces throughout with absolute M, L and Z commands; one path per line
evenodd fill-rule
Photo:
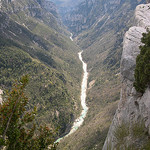
M 28 74 L 28 107 L 37 106 L 37 123 L 59 127 L 58 134 L 63 134 L 80 112 L 79 49 L 62 34 L 69 33 L 57 23 L 59 18 L 41 2 L 2 1 L 0 87 L 9 89 Z

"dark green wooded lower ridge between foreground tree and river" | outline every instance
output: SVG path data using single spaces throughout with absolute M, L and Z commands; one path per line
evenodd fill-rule
M 64 86 L 66 82 L 64 75 L 40 62 L 36 62 L 36 60 L 32 60 L 28 54 L 16 47 L 1 49 L 0 59 L 1 86 L 10 87 L 15 79 L 18 79 L 23 74 L 29 74 L 31 82 L 28 85 L 27 94 L 31 98 L 30 105 L 40 104 L 38 106 L 38 118 L 47 123 L 52 123 L 56 117 L 51 114 L 54 111 L 54 106 L 61 114 L 65 113 L 63 118 L 60 116 L 60 118 L 56 119 L 56 126 L 60 126 L 61 132 L 64 132 L 66 123 L 70 120 L 70 113 L 73 114 L 71 112 L 72 106 L 69 104 L 71 96 Z M 64 112 L 67 106 L 70 108 L 68 112 Z M 47 120 L 47 117 L 51 119 Z M 38 122 L 41 122 L 41 119 L 38 119 Z

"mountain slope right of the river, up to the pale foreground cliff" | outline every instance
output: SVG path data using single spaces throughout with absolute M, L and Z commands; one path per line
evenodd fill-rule
M 88 0 L 66 14 L 64 23 L 84 49 L 88 63 L 90 109 L 84 125 L 62 141 L 59 149 L 102 149 L 120 98 L 123 36 L 134 24 L 134 9 L 141 3 L 145 1 Z

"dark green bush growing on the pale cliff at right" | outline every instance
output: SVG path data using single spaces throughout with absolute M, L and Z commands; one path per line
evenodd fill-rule
M 138 92 L 144 93 L 150 85 L 150 32 L 143 33 L 140 54 L 136 58 L 134 87 Z

